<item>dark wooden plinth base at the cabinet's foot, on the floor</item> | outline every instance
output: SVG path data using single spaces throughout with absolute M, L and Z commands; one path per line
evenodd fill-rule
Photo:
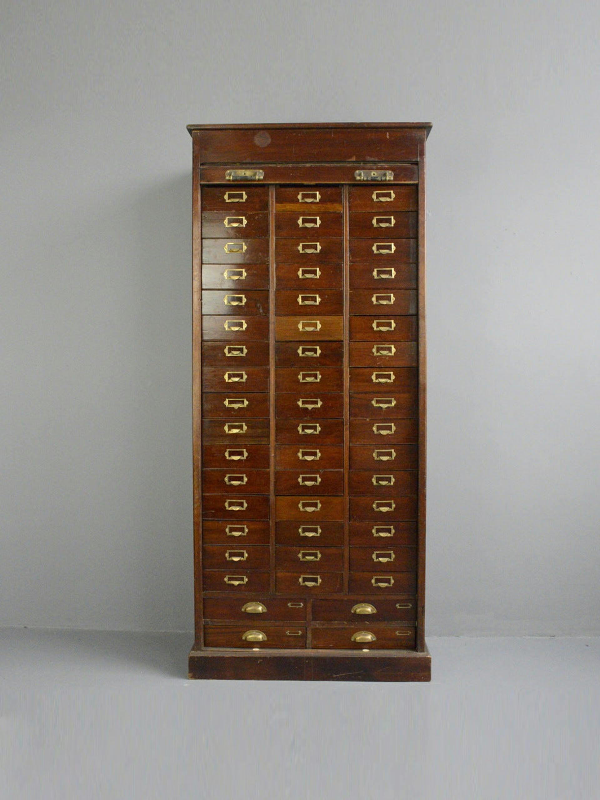
M 430 681 L 429 650 L 190 651 L 190 678 L 251 681 Z

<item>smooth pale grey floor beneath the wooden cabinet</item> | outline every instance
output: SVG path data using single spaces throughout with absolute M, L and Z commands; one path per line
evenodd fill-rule
M 600 640 L 429 645 L 430 684 L 192 682 L 188 634 L 0 631 L 0 798 L 600 798 Z

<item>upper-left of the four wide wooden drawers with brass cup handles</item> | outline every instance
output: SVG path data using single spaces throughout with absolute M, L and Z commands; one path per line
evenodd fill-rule
M 393 601 L 391 601 L 393 602 Z M 304 622 L 305 600 L 275 600 L 263 594 L 243 594 L 235 598 L 204 598 L 202 610 L 206 620 L 243 620 L 260 627 L 263 622 Z

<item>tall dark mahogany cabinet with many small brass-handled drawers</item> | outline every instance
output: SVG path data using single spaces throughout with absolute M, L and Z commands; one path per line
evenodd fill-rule
M 429 680 L 430 125 L 188 130 L 190 677 Z

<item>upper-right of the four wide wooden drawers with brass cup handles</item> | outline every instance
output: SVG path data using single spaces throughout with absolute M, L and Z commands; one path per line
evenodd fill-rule
M 368 627 L 374 622 L 413 622 L 416 616 L 417 604 L 414 598 L 388 600 L 381 597 L 371 598 L 367 594 L 361 600 L 313 602 L 313 622 L 354 622 L 356 625 Z

